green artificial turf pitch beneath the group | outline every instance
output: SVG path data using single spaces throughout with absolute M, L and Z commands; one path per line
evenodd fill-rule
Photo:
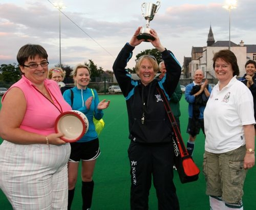
M 110 106 L 104 110 L 105 128 L 100 134 L 101 155 L 97 159 L 94 170 L 94 195 L 92 210 L 129 210 L 130 202 L 130 174 L 127 149 L 128 121 L 126 103 L 122 95 L 99 95 L 100 99 L 110 100 Z M 180 102 L 181 133 L 186 144 L 188 134 L 188 103 L 182 96 Z M 205 180 L 202 174 L 202 155 L 204 153 L 204 135 L 202 131 L 196 138 L 193 159 L 201 172 L 196 182 L 181 184 L 178 174 L 174 171 L 174 182 L 180 202 L 180 210 L 208 210 L 208 196 L 205 195 Z M 250 169 L 244 186 L 244 209 L 254 210 L 256 207 L 256 167 Z M 72 210 L 82 209 L 81 177 L 79 174 Z M 11 210 L 11 206 L 0 191 L 0 209 Z M 157 199 L 154 187 L 150 190 L 149 209 L 157 210 Z

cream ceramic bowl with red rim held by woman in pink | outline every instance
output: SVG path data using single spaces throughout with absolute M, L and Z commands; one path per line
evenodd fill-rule
M 55 122 L 56 133 L 64 134 L 60 139 L 70 143 L 78 141 L 88 131 L 88 127 L 87 117 L 77 110 L 60 114 Z

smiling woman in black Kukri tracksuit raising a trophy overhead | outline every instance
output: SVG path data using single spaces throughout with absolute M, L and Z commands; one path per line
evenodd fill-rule
M 131 191 L 130 209 L 148 209 L 148 196 L 153 176 L 159 210 L 179 210 L 173 182 L 174 148 L 172 126 L 158 89 L 162 88 L 170 99 L 180 79 L 181 66 L 173 53 L 160 43 L 155 30 L 150 30 L 153 40 L 148 40 L 162 55 L 166 63 L 165 79 L 155 79 L 158 63 L 152 55 L 142 55 L 136 62 L 134 80 L 125 67 L 132 51 L 144 40 L 138 40 L 138 27 L 129 43 L 116 58 L 113 70 L 126 99 L 129 123 Z

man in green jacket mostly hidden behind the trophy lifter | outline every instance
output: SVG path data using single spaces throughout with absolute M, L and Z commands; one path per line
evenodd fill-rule
M 159 63 L 159 71 L 161 72 L 161 74 L 158 75 L 158 78 L 159 79 L 164 78 L 164 75 L 166 73 L 166 67 L 164 65 L 164 61 L 161 61 Z M 171 107 L 172 114 L 174 115 L 174 118 L 177 122 L 179 129 L 180 129 L 180 99 L 181 99 L 181 97 L 182 97 L 182 91 L 180 89 L 180 81 L 179 81 L 174 93 L 170 97 L 170 107 Z

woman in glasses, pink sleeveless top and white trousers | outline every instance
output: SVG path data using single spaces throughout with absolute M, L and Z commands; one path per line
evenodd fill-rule
M 22 78 L 2 97 L 0 111 L 0 188 L 16 210 L 66 209 L 70 144 L 54 123 L 71 107 L 58 84 L 46 79 L 42 46 L 23 46 L 17 60 Z

